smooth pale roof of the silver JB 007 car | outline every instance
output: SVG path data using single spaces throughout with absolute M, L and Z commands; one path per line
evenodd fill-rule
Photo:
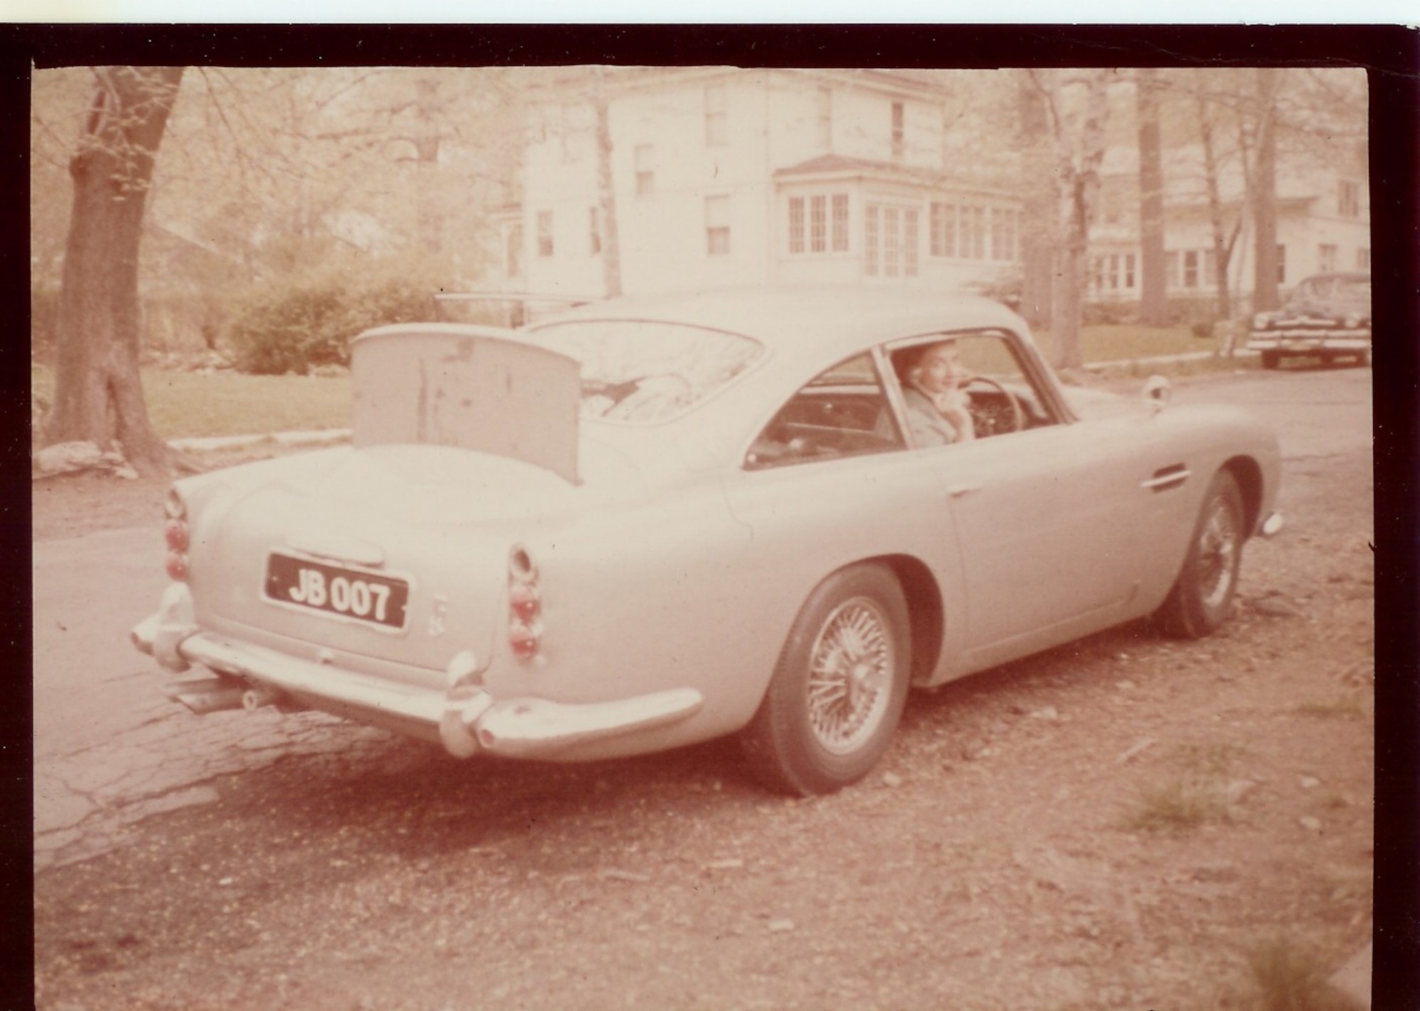
M 846 358 L 897 338 L 1003 327 L 1028 332 L 1011 310 L 961 293 L 876 285 L 707 288 L 611 298 L 540 321 L 527 335 L 571 319 L 655 319 L 751 337 L 785 358 Z M 535 339 L 535 337 L 534 337 Z

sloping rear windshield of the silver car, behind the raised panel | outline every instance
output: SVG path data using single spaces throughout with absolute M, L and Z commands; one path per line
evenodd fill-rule
M 534 339 L 582 365 L 582 417 L 657 422 L 694 406 L 764 354 L 738 334 L 652 321 L 551 324 Z

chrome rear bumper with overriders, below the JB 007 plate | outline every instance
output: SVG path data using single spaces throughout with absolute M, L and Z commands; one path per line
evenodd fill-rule
M 437 727 L 444 750 L 460 758 L 477 751 L 511 757 L 554 754 L 572 744 L 649 730 L 697 713 L 704 699 L 682 687 L 602 703 L 558 703 L 525 697 L 496 700 L 473 683 L 471 653 L 459 653 L 446 670 L 446 690 L 400 684 L 354 670 L 301 660 L 266 646 L 202 632 L 192 621 L 187 588 L 173 584 L 158 613 L 131 633 L 133 646 L 175 672 L 200 663 L 217 674 L 248 683 L 246 692 L 220 679 L 170 686 L 169 694 L 193 711 L 254 707 L 278 693 L 337 707 L 412 720 Z

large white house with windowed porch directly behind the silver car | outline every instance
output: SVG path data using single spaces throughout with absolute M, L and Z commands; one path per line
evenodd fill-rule
M 778 283 L 994 281 L 1021 200 L 946 170 L 946 97 L 892 71 L 578 71 L 537 104 L 501 287 L 601 295 L 594 89 L 611 132 L 625 293 Z

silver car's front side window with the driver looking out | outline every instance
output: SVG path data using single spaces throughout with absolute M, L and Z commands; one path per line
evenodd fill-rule
M 940 354 L 946 351 L 946 354 Z M 914 369 L 929 356 L 946 358 L 950 366 Z M 971 415 L 971 436 L 988 439 L 1025 429 L 1055 425 L 1059 419 L 1041 396 L 1037 381 L 1008 334 L 974 331 L 914 338 L 892 349 L 889 359 L 903 390 L 907 427 L 917 447 L 961 442 L 956 425 L 933 417 L 933 396 L 964 395 Z

